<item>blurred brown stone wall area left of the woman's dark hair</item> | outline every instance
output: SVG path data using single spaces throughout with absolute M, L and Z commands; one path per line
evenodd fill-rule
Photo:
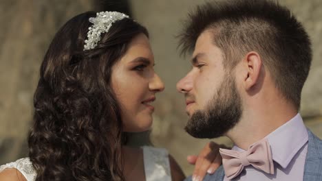
M 39 67 L 58 27 L 90 1 L 0 1 L 0 164 L 27 154 Z

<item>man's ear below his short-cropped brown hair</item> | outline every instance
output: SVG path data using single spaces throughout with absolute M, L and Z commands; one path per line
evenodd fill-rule
M 250 51 L 244 56 L 242 60 L 243 76 L 244 76 L 244 88 L 250 90 L 257 83 L 259 83 L 259 77 L 262 68 L 261 56 L 256 51 Z

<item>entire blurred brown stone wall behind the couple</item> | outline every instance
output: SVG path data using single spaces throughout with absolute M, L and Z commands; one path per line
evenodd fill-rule
M 166 147 L 189 175 L 186 162 L 209 140 L 191 138 L 186 123 L 184 99 L 175 83 L 189 71 L 189 57 L 180 58 L 175 35 L 195 0 L 0 0 L 0 165 L 28 155 L 26 135 L 32 120 L 32 96 L 39 66 L 55 32 L 72 16 L 87 10 L 121 10 L 149 29 L 155 69 L 166 89 L 157 97 L 151 134 L 131 134 L 132 145 L 151 142 Z M 302 95 L 305 124 L 322 138 L 322 1 L 279 0 L 303 23 L 312 39 L 314 60 Z M 112 10 L 112 9 L 111 9 Z M 186 59 L 186 60 L 185 60 Z M 228 138 L 219 143 L 230 144 Z

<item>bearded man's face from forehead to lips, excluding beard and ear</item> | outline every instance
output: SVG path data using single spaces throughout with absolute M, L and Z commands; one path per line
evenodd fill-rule
M 223 54 L 213 45 L 211 32 L 197 38 L 191 60 L 192 69 L 177 83 L 177 89 L 185 93 L 186 112 L 189 117 L 196 110 L 204 110 L 224 80 Z

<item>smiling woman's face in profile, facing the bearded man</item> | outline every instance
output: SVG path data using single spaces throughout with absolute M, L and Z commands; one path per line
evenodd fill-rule
M 120 104 L 125 132 L 142 132 L 151 127 L 154 110 L 151 102 L 155 100 L 155 93 L 164 90 L 153 66 L 149 39 L 140 34 L 112 67 L 111 87 Z

